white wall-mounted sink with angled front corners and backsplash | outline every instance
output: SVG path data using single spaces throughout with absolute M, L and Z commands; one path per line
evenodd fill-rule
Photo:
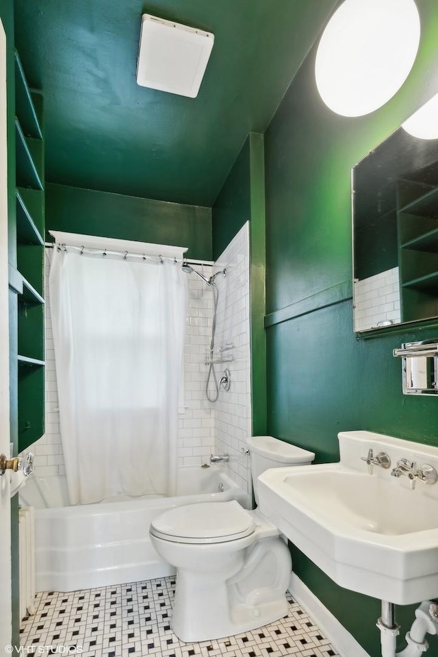
M 268 470 L 259 506 L 337 584 L 396 604 L 438 596 L 438 482 L 395 478 L 400 458 L 438 469 L 438 448 L 370 432 L 339 434 L 341 461 Z M 391 467 L 361 460 L 385 451 Z

